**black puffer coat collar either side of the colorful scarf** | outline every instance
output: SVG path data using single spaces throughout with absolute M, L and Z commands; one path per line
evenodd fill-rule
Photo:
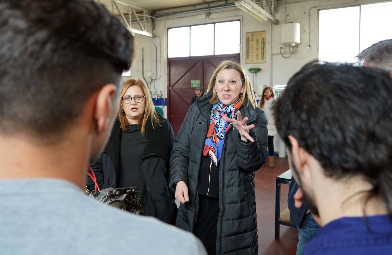
M 213 106 L 210 103 L 211 98 L 212 98 L 212 91 L 196 99 L 200 112 L 205 116 L 207 120 L 210 118 L 211 110 Z M 247 105 L 247 103 L 245 103 L 243 106 L 241 106 L 240 111 L 241 111 L 242 118 L 248 117 L 247 123 L 250 123 L 257 118 L 256 111 L 251 104 Z

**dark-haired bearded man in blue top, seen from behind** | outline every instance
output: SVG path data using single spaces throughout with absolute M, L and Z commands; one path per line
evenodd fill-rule
M 274 105 L 293 177 L 322 226 L 305 255 L 390 254 L 391 98 L 386 71 L 309 63 Z

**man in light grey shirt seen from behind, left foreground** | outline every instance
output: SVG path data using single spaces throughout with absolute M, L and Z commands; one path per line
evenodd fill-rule
M 1 0 L 0 35 L 0 254 L 205 254 L 84 192 L 134 53 L 118 17 L 88 0 Z

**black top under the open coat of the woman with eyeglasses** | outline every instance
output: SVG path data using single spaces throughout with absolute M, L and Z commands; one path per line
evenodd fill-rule
M 120 143 L 120 178 L 118 186 L 140 188 L 143 192 L 143 206 L 147 208 L 149 193 L 145 177 L 140 166 L 140 159 L 147 144 L 138 125 L 127 125 L 127 131 L 121 134 Z

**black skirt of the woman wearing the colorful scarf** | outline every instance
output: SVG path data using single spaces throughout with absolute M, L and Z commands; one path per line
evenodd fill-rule
M 216 253 L 216 229 L 218 228 L 219 199 L 199 195 L 199 213 L 193 230 L 204 244 L 209 255 Z

